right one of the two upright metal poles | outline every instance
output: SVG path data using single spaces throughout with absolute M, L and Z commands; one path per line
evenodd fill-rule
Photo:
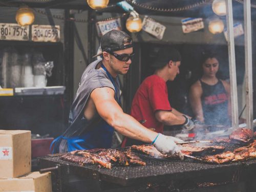
M 246 80 L 246 124 L 253 131 L 252 103 L 252 56 L 251 56 L 251 1 L 244 0 L 244 48 L 245 48 L 245 80 Z

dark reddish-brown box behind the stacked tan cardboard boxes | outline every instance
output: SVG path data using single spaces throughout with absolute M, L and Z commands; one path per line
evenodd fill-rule
M 50 154 L 50 145 L 53 137 L 31 140 L 32 158 L 42 157 Z

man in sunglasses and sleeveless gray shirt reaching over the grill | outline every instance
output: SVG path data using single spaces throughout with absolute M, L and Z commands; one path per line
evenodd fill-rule
M 112 30 L 100 41 L 102 60 L 96 60 L 83 72 L 71 106 L 70 126 L 56 138 L 53 153 L 91 148 L 110 148 L 114 130 L 132 139 L 152 143 L 163 154 L 183 158 L 174 137 L 146 129 L 119 106 L 118 74 L 126 74 L 133 57 L 132 38 L 123 31 Z M 51 145 L 51 148 L 52 148 Z

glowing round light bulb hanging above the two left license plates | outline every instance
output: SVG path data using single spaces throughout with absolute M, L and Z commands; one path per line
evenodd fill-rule
M 28 6 L 22 6 L 16 12 L 16 22 L 20 26 L 31 25 L 34 19 L 35 15 Z

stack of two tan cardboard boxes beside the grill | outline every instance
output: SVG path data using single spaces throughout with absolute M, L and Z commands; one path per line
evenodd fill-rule
M 51 174 L 31 172 L 31 132 L 0 130 L 0 191 L 51 192 Z

